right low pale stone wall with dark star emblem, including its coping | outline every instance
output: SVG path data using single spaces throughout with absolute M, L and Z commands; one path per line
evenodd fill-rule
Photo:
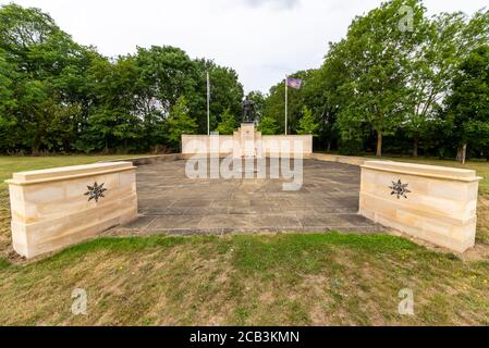
M 383 161 L 360 166 L 362 215 L 459 252 L 475 245 L 475 171 Z

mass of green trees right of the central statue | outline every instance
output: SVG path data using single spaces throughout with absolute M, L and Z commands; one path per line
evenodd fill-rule
M 405 7 L 413 10 L 411 28 L 403 27 Z M 488 10 L 473 17 L 461 12 L 429 17 L 421 0 L 386 1 L 353 20 L 346 37 L 330 44 L 320 69 L 293 75 L 304 85 L 289 90 L 289 130 L 304 133 L 301 116 L 307 107 L 323 149 L 337 146 L 341 153 L 356 154 L 377 148 L 381 156 L 384 141 L 402 153 L 412 142 L 415 156 L 418 148 L 453 156 L 462 128 L 448 121 L 454 116 L 448 117 L 443 105 L 462 62 L 487 42 Z M 273 86 L 264 108 L 281 132 L 284 90 L 283 82 Z M 474 111 L 477 102 L 466 108 Z M 465 134 L 477 138 L 470 153 L 489 158 L 485 121 L 463 123 Z

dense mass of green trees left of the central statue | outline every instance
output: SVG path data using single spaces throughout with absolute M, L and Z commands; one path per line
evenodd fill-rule
M 108 59 L 83 47 L 38 9 L 0 8 L 0 152 L 143 152 L 178 148 L 183 129 L 207 132 L 206 72 L 211 114 L 240 114 L 235 71 L 192 60 L 164 46 Z M 198 129 L 166 122 L 185 97 Z M 180 122 L 182 121 L 182 122 Z M 221 122 L 212 116 L 215 128 Z M 185 125 L 186 124 L 186 125 Z M 167 134 L 168 133 L 168 134 Z

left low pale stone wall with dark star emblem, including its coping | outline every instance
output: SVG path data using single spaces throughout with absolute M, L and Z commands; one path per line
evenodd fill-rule
M 33 258 L 134 220 L 135 169 L 114 162 L 13 174 L 7 183 L 14 250 Z

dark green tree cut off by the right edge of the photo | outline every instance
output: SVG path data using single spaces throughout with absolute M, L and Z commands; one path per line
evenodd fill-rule
M 457 140 L 457 160 L 465 163 L 468 145 L 489 145 L 489 46 L 474 50 L 461 64 L 448 98 L 448 119 Z

